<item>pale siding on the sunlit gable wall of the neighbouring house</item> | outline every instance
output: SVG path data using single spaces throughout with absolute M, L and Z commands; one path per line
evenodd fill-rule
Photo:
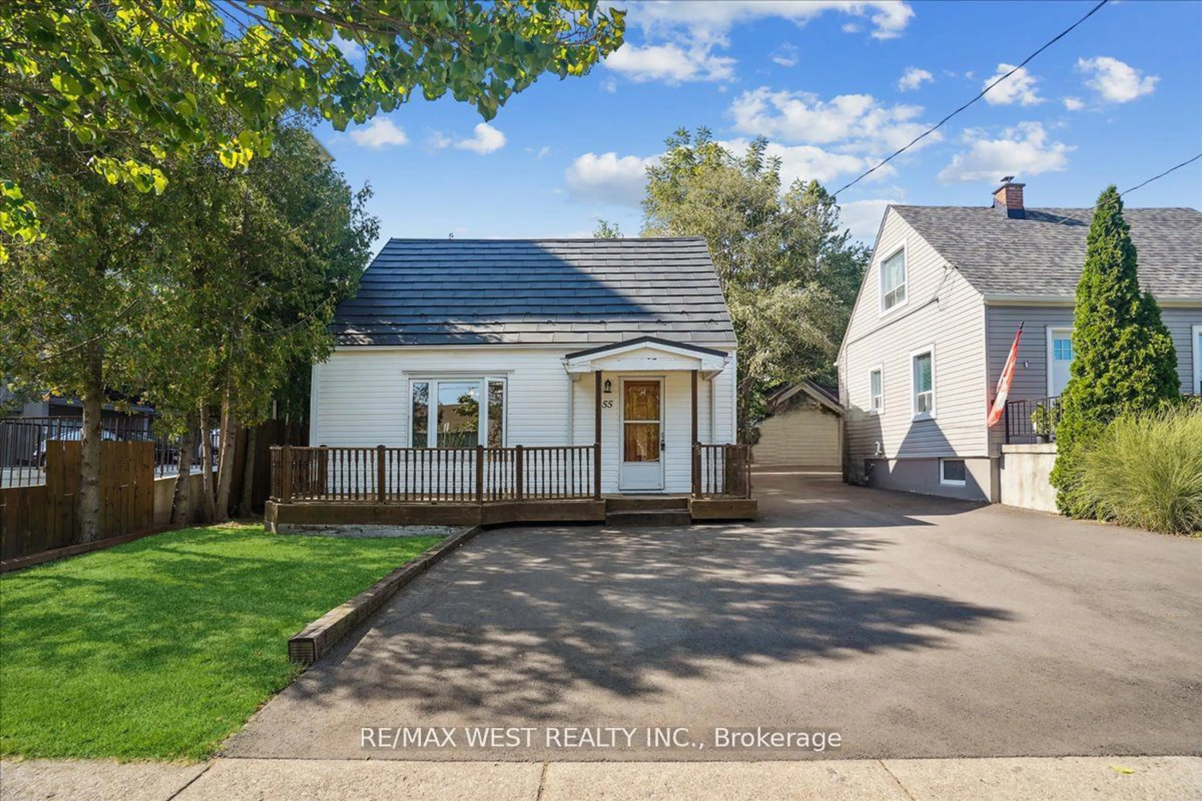
M 876 289 L 883 256 L 905 244 L 908 300 L 881 317 Z M 844 437 L 851 467 L 886 459 L 984 456 L 984 304 L 954 269 L 892 209 L 887 213 L 864 288 L 839 354 L 840 400 L 847 408 Z M 938 419 L 915 420 L 911 352 L 934 346 Z M 867 379 L 881 370 L 883 411 L 870 414 Z M 927 479 L 938 490 L 935 462 Z

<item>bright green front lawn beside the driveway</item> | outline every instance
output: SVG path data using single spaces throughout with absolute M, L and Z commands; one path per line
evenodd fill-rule
M 439 539 L 214 526 L 0 576 L 0 755 L 203 759 L 291 635 Z

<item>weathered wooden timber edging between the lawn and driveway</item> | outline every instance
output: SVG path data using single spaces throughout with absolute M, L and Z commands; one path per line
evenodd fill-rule
M 439 560 L 480 532 L 480 526 L 472 526 L 447 537 L 412 562 L 397 568 L 340 606 L 331 609 L 288 640 L 288 659 L 303 665 L 311 665 L 338 645 L 356 626 L 380 609 L 386 600 L 397 594 L 401 587 L 426 573 Z

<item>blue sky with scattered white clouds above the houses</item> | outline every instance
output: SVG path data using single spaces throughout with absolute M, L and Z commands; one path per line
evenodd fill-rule
M 786 179 L 844 185 L 1085 13 L 1085 2 L 627 2 L 626 44 L 545 77 L 488 125 L 415 101 L 317 132 L 381 237 L 637 234 L 643 169 L 677 127 L 763 135 Z M 871 241 L 885 204 L 984 205 L 1018 175 L 1031 207 L 1089 207 L 1202 151 L 1202 4 L 1111 2 L 873 180 L 840 196 Z M 987 102 L 988 101 L 988 102 Z M 1127 198 L 1202 205 L 1202 161 Z

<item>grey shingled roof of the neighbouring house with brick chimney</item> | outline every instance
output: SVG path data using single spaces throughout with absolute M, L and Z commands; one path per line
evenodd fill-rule
M 1093 209 L 894 205 L 932 247 L 984 294 L 1072 297 L 1085 263 Z M 1139 283 L 1158 298 L 1202 297 L 1202 213 L 1124 209 Z

